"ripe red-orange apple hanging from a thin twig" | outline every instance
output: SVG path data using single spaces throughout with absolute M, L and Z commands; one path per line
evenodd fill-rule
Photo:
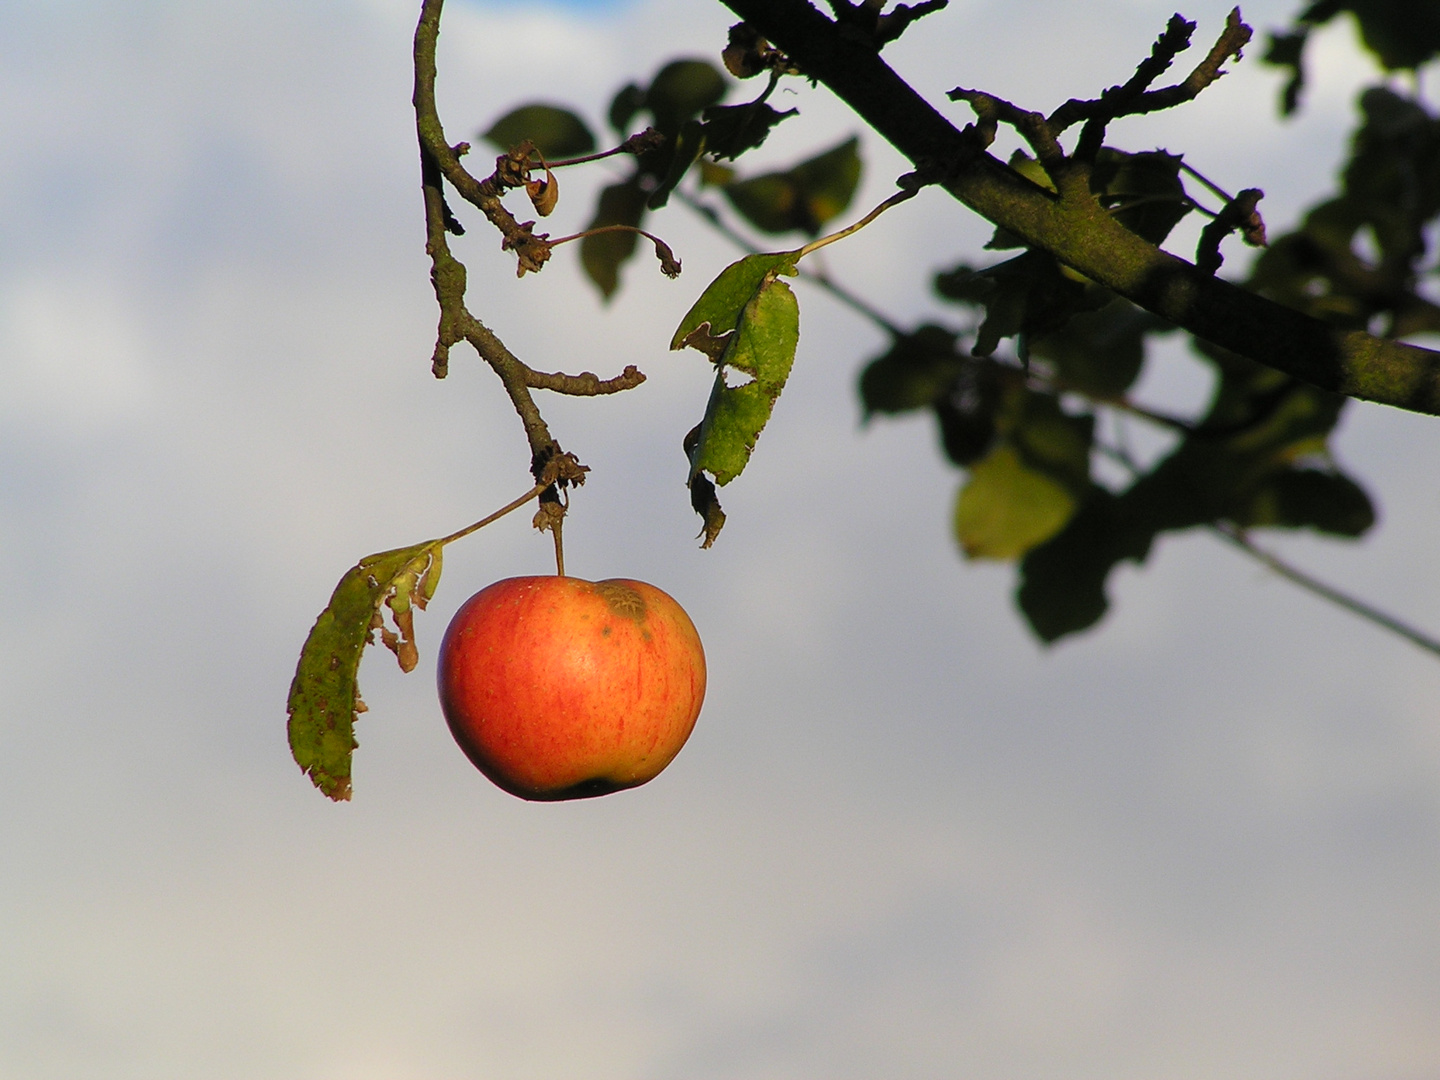
M 706 654 L 654 585 L 510 577 L 455 612 L 441 708 L 485 776 L 523 799 L 586 799 L 654 779 L 685 744 Z

